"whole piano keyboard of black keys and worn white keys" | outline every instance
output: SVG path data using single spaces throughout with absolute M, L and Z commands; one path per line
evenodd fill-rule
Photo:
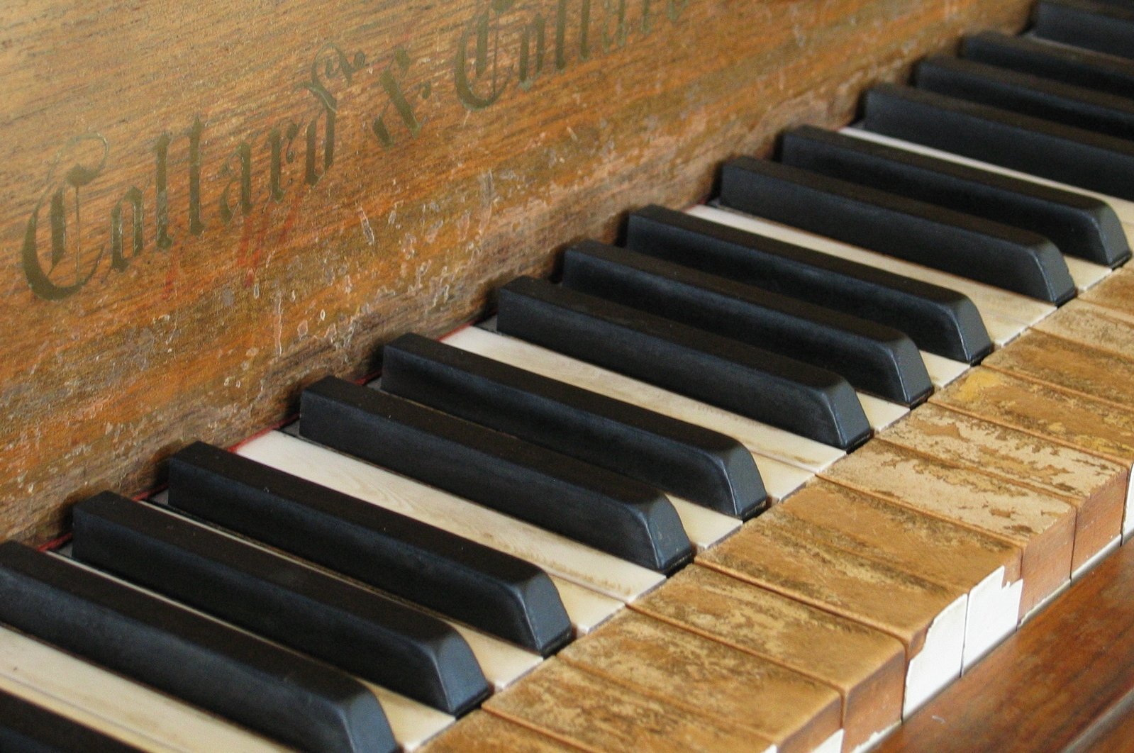
M 1134 534 L 1134 11 L 1035 18 L 0 545 L 0 747 L 875 744 Z

